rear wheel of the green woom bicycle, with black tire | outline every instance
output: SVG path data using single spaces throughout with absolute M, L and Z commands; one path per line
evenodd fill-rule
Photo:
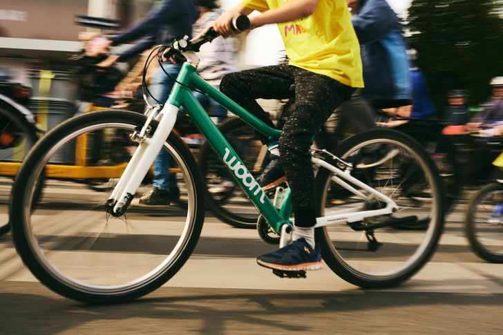
M 364 157 L 377 153 L 377 148 L 383 149 L 384 153 L 375 160 L 380 163 L 366 167 L 371 164 L 361 162 L 365 162 Z M 351 173 L 354 178 L 387 195 L 398 206 L 398 210 L 389 216 L 377 216 L 357 223 L 397 222 L 397 218 L 413 223 L 428 218 L 429 224 L 424 231 L 397 231 L 392 227 L 396 223 L 375 228 L 372 236 L 376 242 L 371 241 L 372 236 L 367 237 L 364 231 L 358 231 L 357 227 L 353 228 L 347 222 L 317 228 L 316 240 L 321 244 L 323 260 L 341 278 L 359 287 L 398 285 L 428 262 L 442 233 L 442 187 L 435 166 L 415 140 L 388 129 L 357 133 L 341 142 L 335 154 L 354 164 Z M 368 197 L 370 193 L 358 187 L 368 197 L 366 200 L 352 193 L 333 194 L 331 188 L 335 182 L 331 179 L 332 175 L 323 168 L 316 175 L 319 216 L 327 216 L 330 211 L 383 208 L 383 202 Z M 420 196 L 417 195 L 419 191 Z

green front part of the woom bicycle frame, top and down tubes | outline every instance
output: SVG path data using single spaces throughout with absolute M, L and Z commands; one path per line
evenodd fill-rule
M 260 133 L 269 137 L 271 140 L 278 140 L 281 131 L 267 126 L 260 119 L 246 111 L 244 108 L 233 102 L 229 97 L 225 96 L 219 90 L 205 82 L 204 79 L 196 75 L 196 68 L 190 64 L 184 63 L 177 78 L 178 83 L 175 83 L 173 90 L 167 100 L 167 104 L 172 104 L 180 108 L 183 106 L 187 111 L 194 124 L 206 138 L 211 148 L 216 152 L 220 160 L 224 162 L 231 175 L 241 186 L 243 191 L 258 209 L 260 214 L 267 220 L 272 229 L 279 233 L 283 224 L 292 224 L 289 220 L 292 213 L 292 204 L 290 202 L 290 189 L 287 190 L 280 211 L 274 207 L 274 204 L 267 198 L 264 191 L 260 188 L 252 173 L 249 173 L 246 166 L 240 160 L 234 149 L 225 137 L 218 131 L 218 128 L 213 123 L 205 109 L 202 108 L 198 99 L 186 86 L 197 88 L 213 99 L 218 104 L 222 105 L 227 110 L 237 115 L 244 122 L 255 128 Z M 184 86 L 185 85 L 185 86 Z

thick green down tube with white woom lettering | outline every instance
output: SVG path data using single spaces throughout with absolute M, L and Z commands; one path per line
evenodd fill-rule
M 220 157 L 220 160 L 227 166 L 227 169 L 229 169 L 234 176 L 236 182 L 243 188 L 248 198 L 255 204 L 260 214 L 264 216 L 274 230 L 279 231 L 279 227 L 281 227 L 283 223 L 288 223 L 287 220 L 281 218 L 272 202 L 267 198 L 260 186 L 258 186 L 252 173 L 249 173 L 245 164 L 243 164 L 238 155 L 236 155 L 236 152 L 232 149 L 229 142 L 227 142 L 222 133 L 218 131 L 218 128 L 213 121 L 211 121 L 196 97 L 190 93 L 185 93 L 182 105 L 189 111 L 196 126 L 198 126 L 201 133 L 205 135 L 206 140 L 217 153 L 218 157 Z

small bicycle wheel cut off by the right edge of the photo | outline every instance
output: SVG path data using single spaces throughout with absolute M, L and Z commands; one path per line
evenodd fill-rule
M 471 249 L 482 259 L 503 263 L 503 221 L 492 216 L 503 202 L 503 184 L 495 182 L 473 194 L 464 218 L 464 230 Z M 491 222 L 489 219 L 493 219 Z

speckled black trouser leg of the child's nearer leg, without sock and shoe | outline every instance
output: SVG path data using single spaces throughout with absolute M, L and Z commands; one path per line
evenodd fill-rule
M 307 70 L 294 68 L 294 72 L 296 103 L 283 126 L 279 144 L 283 169 L 292 189 L 296 227 L 311 228 L 316 224 L 314 172 L 309 152 L 312 139 L 354 89 Z

